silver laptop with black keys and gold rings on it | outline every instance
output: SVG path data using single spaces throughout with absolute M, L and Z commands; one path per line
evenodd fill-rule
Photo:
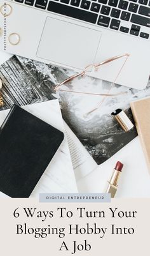
M 117 84 L 144 89 L 150 73 L 150 0 L 0 0 L 0 50 L 81 72 L 130 54 Z M 5 10 L 4 10 L 5 9 Z M 124 57 L 88 75 L 113 82 Z

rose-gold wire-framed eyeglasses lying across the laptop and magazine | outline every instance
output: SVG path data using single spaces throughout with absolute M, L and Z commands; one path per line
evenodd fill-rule
M 99 64 L 89 64 L 88 66 L 85 67 L 85 69 L 80 72 L 80 73 L 77 73 L 75 75 L 72 75 L 71 77 L 65 79 L 64 81 L 60 82 L 60 84 L 58 84 L 56 87 L 55 87 L 55 91 L 61 91 L 61 92 L 65 92 L 65 93 L 76 93 L 76 94 L 86 94 L 86 95 L 93 95 L 93 96 L 104 96 L 104 98 L 102 99 L 102 101 L 99 103 L 99 105 L 97 107 L 95 107 L 95 109 L 92 109 L 90 112 L 88 112 L 87 114 L 90 114 L 92 113 L 93 111 L 99 109 L 99 107 L 102 105 L 102 103 L 104 102 L 104 100 L 106 100 L 106 97 L 107 96 L 119 96 L 119 95 L 122 95 L 122 94 L 126 94 L 127 92 L 120 92 L 120 93 L 110 93 L 111 89 L 113 88 L 116 80 L 118 79 L 121 71 L 123 70 L 123 67 L 125 66 L 125 63 L 126 61 L 128 60 L 128 57 L 130 56 L 130 54 L 123 54 L 123 55 L 119 55 L 119 56 L 114 56 L 114 57 L 111 57 L 109 59 L 106 59 L 105 61 L 102 61 L 101 63 Z M 119 69 L 118 71 L 118 74 L 116 75 L 110 89 L 107 91 L 107 93 L 91 93 L 91 92 L 83 92 L 83 91 L 72 91 L 70 89 L 64 89 L 62 88 L 62 86 L 64 86 L 65 84 L 67 84 L 68 82 L 71 82 L 72 80 L 78 78 L 78 77 L 85 77 L 87 75 L 87 72 L 91 69 L 91 68 L 94 68 L 95 72 L 97 72 L 100 68 L 100 66 L 104 65 L 104 64 L 107 64 L 107 63 L 111 63 L 112 61 L 116 61 L 117 59 L 120 59 L 122 57 L 125 57 L 125 61 L 123 62 L 123 64 L 121 65 L 121 68 Z

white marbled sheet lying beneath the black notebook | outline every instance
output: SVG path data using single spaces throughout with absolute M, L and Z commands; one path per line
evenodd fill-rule
M 25 110 L 39 117 L 64 132 L 64 123 L 60 112 L 58 100 L 36 103 L 23 107 Z M 7 116 L 9 110 L 0 112 L 0 125 Z M 31 197 L 38 197 L 39 193 L 77 193 L 76 179 L 72 168 L 71 156 L 67 139 L 60 145 L 57 153 L 51 160 L 43 176 L 34 188 Z M 1 195 L 3 197 L 3 195 Z

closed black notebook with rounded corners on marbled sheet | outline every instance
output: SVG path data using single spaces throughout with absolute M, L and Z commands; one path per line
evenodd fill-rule
M 29 197 L 64 133 L 14 105 L 0 129 L 0 191 Z

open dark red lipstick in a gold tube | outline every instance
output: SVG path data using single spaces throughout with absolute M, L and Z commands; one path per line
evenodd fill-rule
M 123 169 L 123 163 L 118 161 L 116 163 L 116 166 L 114 167 L 111 179 L 110 181 L 108 181 L 109 184 L 106 190 L 106 193 L 111 193 L 111 197 L 114 197 L 116 195 L 117 188 L 118 188 L 118 179 L 119 179 L 119 176 L 121 175 L 122 169 Z

